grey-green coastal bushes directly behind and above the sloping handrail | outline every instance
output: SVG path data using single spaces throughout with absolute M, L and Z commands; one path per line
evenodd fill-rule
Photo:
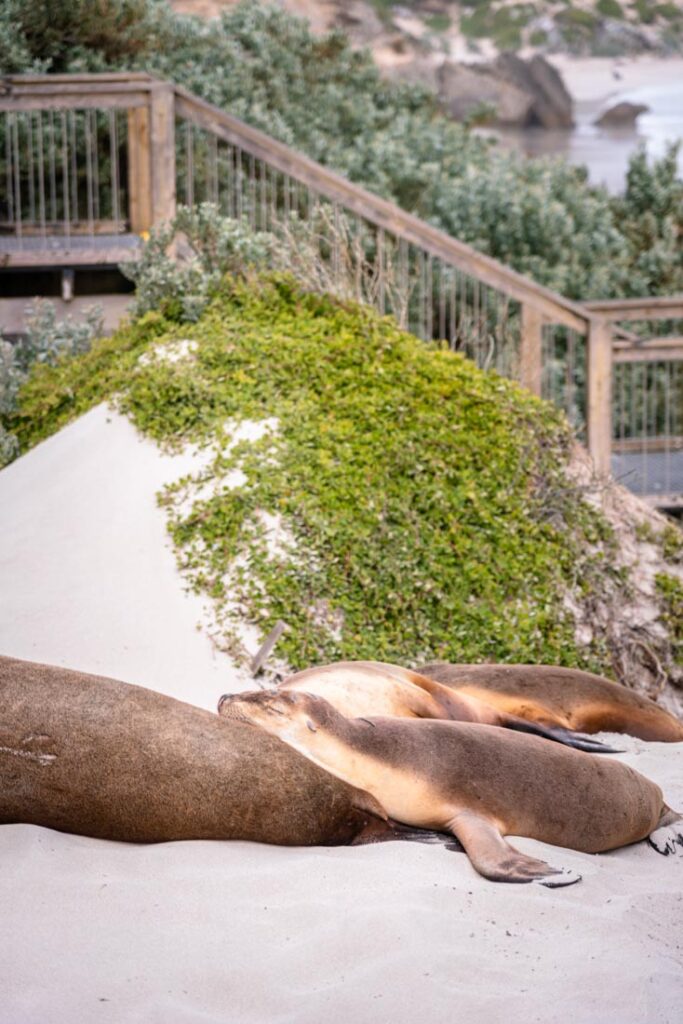
M 79 18 L 76 7 L 57 46 L 42 0 L 26 0 L 6 25 L 18 57 L 0 71 L 20 70 L 17 59 L 27 70 L 39 59 L 52 71 L 144 69 L 571 297 L 661 290 L 641 270 L 638 233 L 622 232 L 603 189 L 559 161 L 493 147 L 443 118 L 427 90 L 384 81 L 370 55 L 352 50 L 342 34 L 316 38 L 304 22 L 260 4 L 243 2 L 202 22 L 163 0 L 134 3 L 136 11 L 143 5 L 143 44 L 126 20 L 127 0 L 106 0 L 99 41 L 92 12 Z M 517 8 L 530 10 L 511 10 Z M 109 34 L 117 32 L 117 11 L 124 29 L 115 43 Z

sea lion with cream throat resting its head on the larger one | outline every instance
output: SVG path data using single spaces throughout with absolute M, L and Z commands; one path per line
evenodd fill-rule
M 505 836 L 600 853 L 650 836 L 683 854 L 683 818 L 626 765 L 536 736 L 461 722 L 356 718 L 295 690 L 237 694 L 225 717 L 278 736 L 371 793 L 397 821 L 452 833 L 479 873 L 551 887 L 575 872 L 519 853 Z

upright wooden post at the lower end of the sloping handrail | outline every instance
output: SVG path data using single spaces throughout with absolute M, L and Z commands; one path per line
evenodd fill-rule
M 607 321 L 592 316 L 587 338 L 586 432 L 598 473 L 609 473 L 612 443 L 612 332 Z

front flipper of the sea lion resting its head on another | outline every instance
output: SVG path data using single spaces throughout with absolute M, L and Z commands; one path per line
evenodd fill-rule
M 465 847 L 475 870 L 492 882 L 538 882 L 550 889 L 581 882 L 575 871 L 551 867 L 545 860 L 515 850 L 487 818 L 473 811 L 459 811 L 449 828 Z

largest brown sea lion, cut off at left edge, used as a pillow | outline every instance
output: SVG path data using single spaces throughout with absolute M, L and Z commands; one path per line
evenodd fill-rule
M 0 657 L 0 822 L 134 843 L 416 838 L 264 732 L 139 686 Z

